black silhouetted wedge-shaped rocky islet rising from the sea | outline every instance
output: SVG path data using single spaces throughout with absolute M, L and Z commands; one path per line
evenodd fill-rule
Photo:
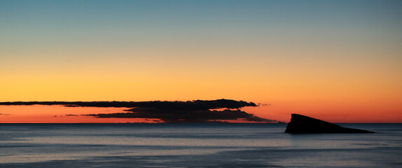
M 288 123 L 285 132 L 291 134 L 374 133 L 366 130 L 345 128 L 323 120 L 294 113 L 292 114 L 291 122 Z

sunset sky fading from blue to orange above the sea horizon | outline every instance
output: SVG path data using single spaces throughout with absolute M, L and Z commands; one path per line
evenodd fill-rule
M 0 0 L 0 102 L 235 99 L 284 122 L 402 123 L 401 30 L 402 1 Z M 57 123 L 33 119 L 56 107 L 0 106 L 0 123 Z

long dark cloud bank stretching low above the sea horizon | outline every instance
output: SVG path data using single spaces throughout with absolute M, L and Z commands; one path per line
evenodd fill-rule
M 0 102 L 0 105 L 62 105 L 69 107 L 123 107 L 127 113 L 95 113 L 81 116 L 95 118 L 151 118 L 165 123 L 216 123 L 222 120 L 277 122 L 240 111 L 244 106 L 257 106 L 253 102 L 230 99 L 193 100 L 187 102 Z M 221 110 L 216 110 L 221 109 Z M 67 114 L 65 116 L 76 116 Z

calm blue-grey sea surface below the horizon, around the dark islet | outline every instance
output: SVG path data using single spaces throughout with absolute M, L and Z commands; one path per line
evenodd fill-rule
M 0 167 L 402 167 L 402 124 L 0 124 Z

